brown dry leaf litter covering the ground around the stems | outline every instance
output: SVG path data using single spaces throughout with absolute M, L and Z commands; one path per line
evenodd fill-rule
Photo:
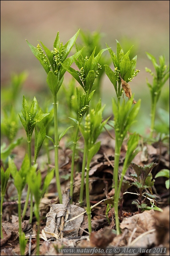
M 101 148 L 90 165 L 90 202 L 95 205 L 92 208 L 92 233 L 89 239 L 88 235 L 88 220 L 85 213 L 85 194 L 84 202 L 80 207 L 79 193 L 81 185 L 81 173 L 75 173 L 74 176 L 74 204 L 69 203 L 69 186 L 67 180 L 61 178 L 61 187 L 63 189 L 63 204 L 59 204 L 59 199 L 56 194 L 55 181 L 51 182 L 49 191 L 41 199 L 41 242 L 40 255 L 62 255 L 57 252 L 57 248 L 106 248 L 113 246 L 128 246 L 128 247 L 166 247 L 169 255 L 169 191 L 165 188 L 165 177 L 159 177 L 154 184 L 157 205 L 163 209 L 163 212 L 154 210 L 144 211 L 138 214 L 135 205 L 132 201 L 137 198 L 136 188 L 131 186 L 128 192 L 123 196 L 123 218 L 120 218 L 121 234 L 116 236 L 113 232 L 114 223 L 112 222 L 112 215 L 114 208 L 110 210 L 108 215 L 110 224 L 106 218 L 106 207 L 103 201 L 106 200 L 104 190 L 106 190 L 108 198 L 112 198 L 114 190 L 112 189 L 112 174 L 114 166 L 114 147 L 109 144 L 109 137 L 107 133 L 101 134 Z M 108 146 L 109 145 L 109 146 Z M 121 158 L 119 162 L 119 176 L 126 153 L 126 144 L 121 149 Z M 160 154 L 161 153 L 161 154 Z M 60 174 L 70 174 L 71 157 L 66 154 L 66 151 L 60 150 Z M 66 154 L 66 155 L 65 155 Z M 167 147 L 158 145 L 144 145 L 141 147 L 139 153 L 133 159 L 137 165 L 145 165 L 151 162 L 159 163 L 158 167 L 152 171 L 153 178 L 161 169 L 169 168 L 168 161 L 169 153 Z M 17 161 L 17 157 L 16 157 Z M 81 165 L 82 159 L 79 158 L 78 164 Z M 38 164 L 43 164 L 43 157 L 38 159 Z M 43 175 L 45 176 L 48 166 L 44 165 Z M 134 178 L 129 176 L 134 174 L 134 170 L 129 167 L 125 180 L 132 183 Z M 85 181 L 84 181 L 85 182 Z M 85 192 L 85 191 L 84 191 Z M 15 191 L 13 196 L 15 198 Z M 25 195 L 25 194 L 24 194 Z M 17 198 L 17 197 L 16 197 Z M 23 196 L 23 202 L 25 200 Z M 9 199 L 8 199 L 9 201 Z M 102 202 L 100 202 L 102 201 Z M 99 203 L 100 202 L 100 203 Z M 99 204 L 98 204 L 99 203 Z M 167 207 L 166 207 L 167 206 Z M 12 208 L 11 208 L 12 207 Z M 10 210 L 11 208 L 11 210 Z M 20 255 L 19 254 L 19 238 L 18 238 L 18 221 L 17 221 L 17 202 L 3 203 L 3 235 L 1 239 L 1 255 Z M 5 213 L 5 215 L 4 215 Z M 83 214 L 82 214 L 83 213 Z M 112 214 L 111 214 L 112 213 Z M 80 216 L 79 216 L 80 215 Z M 79 216 L 79 217 L 77 217 Z M 77 217 L 77 218 L 75 218 Z M 75 219 L 74 219 L 75 218 Z M 29 219 L 29 208 L 27 216 Z M 69 221 L 70 219 L 73 219 Z M 113 220 L 114 221 L 114 220 Z M 36 255 L 36 219 L 33 218 L 32 224 L 28 224 L 25 220 L 22 222 L 22 230 L 25 232 L 27 238 L 32 236 L 31 247 L 29 248 L 29 241 L 27 242 L 25 254 Z M 31 249 L 30 254 L 28 253 Z M 80 255 L 80 254 L 79 254 Z M 146 254 L 144 254 L 146 255 Z M 151 255 L 151 254 L 147 254 Z

